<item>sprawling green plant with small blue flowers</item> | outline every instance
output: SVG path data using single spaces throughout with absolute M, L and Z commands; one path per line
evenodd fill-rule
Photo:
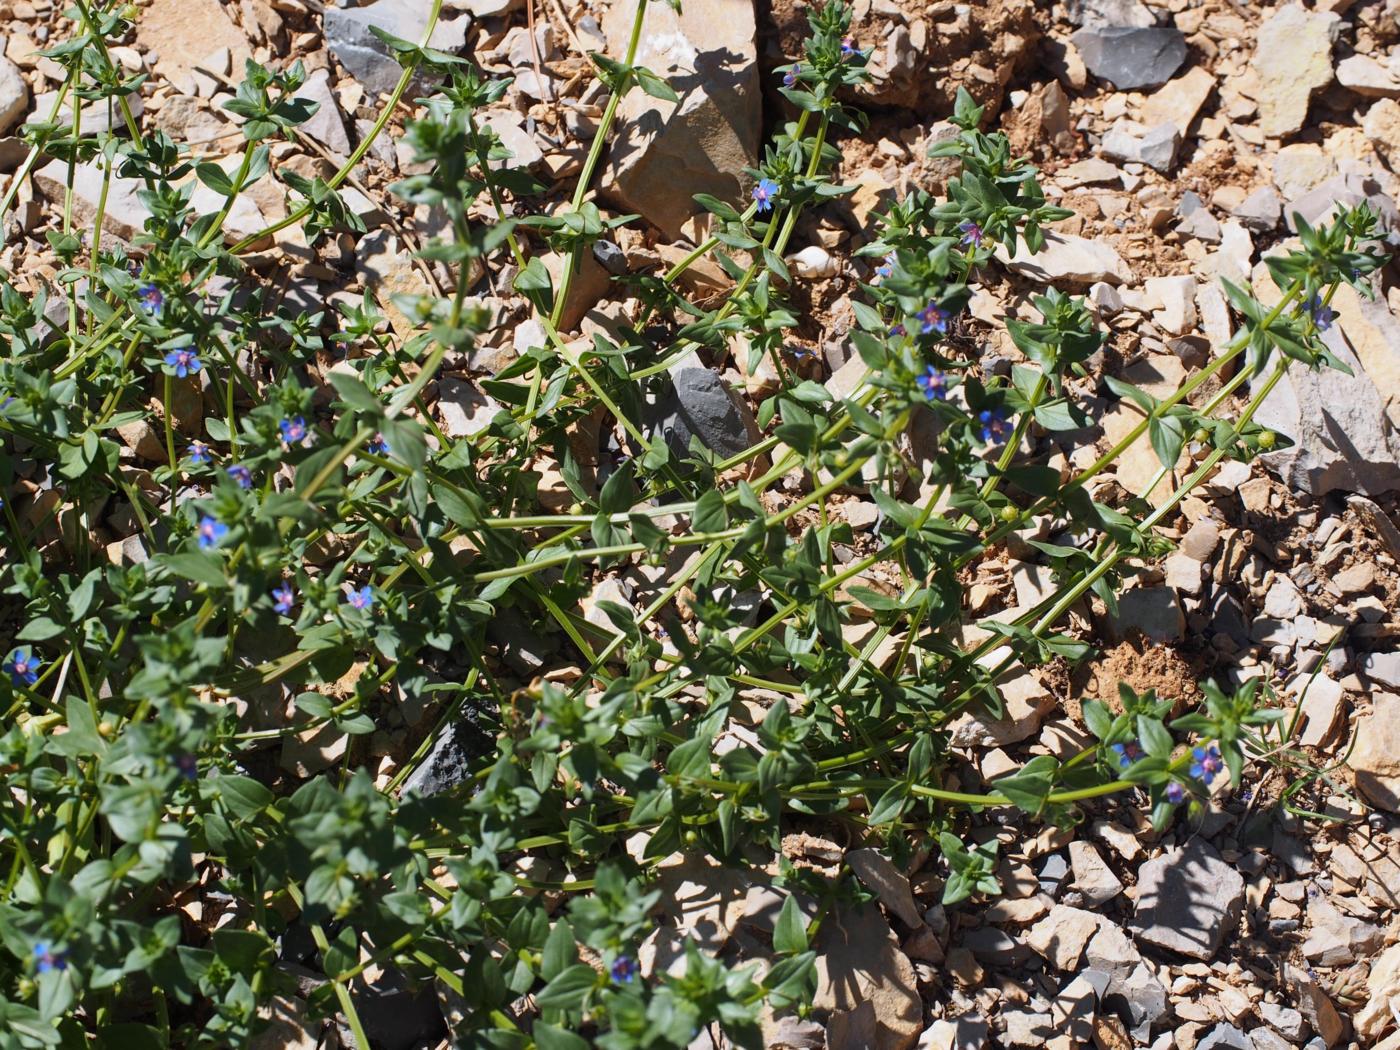
M 343 1015 L 360 1046 L 365 983 L 386 967 L 435 984 L 463 1044 L 683 1047 L 714 1026 L 759 1046 L 764 1009 L 808 1009 L 813 941 L 858 893 L 780 860 L 797 823 L 900 860 L 931 847 L 956 903 L 997 892 L 995 843 L 970 836 L 972 813 L 1074 823 L 1088 799 L 1135 792 L 1163 826 L 1270 746 L 1277 713 L 1252 687 L 1211 686 L 1176 721 L 1175 699 L 1124 690 L 1114 708 L 1085 701 L 1081 753 L 1036 757 L 986 794 L 949 783 L 952 720 L 998 714 L 1008 671 L 1084 658 L 1089 645 L 1057 630 L 1065 612 L 1089 594 L 1112 606 L 1128 563 L 1166 549 L 1154 528 L 1193 487 L 1277 447 L 1252 419 L 1291 361 L 1338 365 L 1319 332 L 1336 288 L 1365 291 L 1382 262 L 1366 249 L 1373 218 L 1299 221 L 1301 245 L 1268 260 L 1273 307 L 1226 284 L 1239 332 L 1172 396 L 1106 379 L 1141 421 L 1065 473 L 1043 438 L 1088 424 L 1071 381 L 1092 378 L 1105 333 L 1046 288 L 1037 321 L 1007 322 L 1022 354 L 1009 377 L 980 368 L 960 319 L 970 290 L 995 248 L 1036 252 L 1068 213 L 962 95 L 959 133 L 935 150 L 959 168 L 946 195 L 916 190 L 869 231 L 878 266 L 850 333 L 865 371 L 837 395 L 801 378 L 784 339 L 798 218 L 847 192 L 832 139 L 861 127 L 847 99 L 867 56 L 832 0 L 777 71 L 795 118 L 750 172 L 750 199 L 700 197 L 707 239 L 627 279 L 640 307 L 616 335 L 577 340 L 561 318 L 585 253 L 631 221 L 588 200 L 619 101 L 675 98 L 636 64 L 645 11 L 623 57 L 595 56 L 610 95 L 566 207 L 529 206 L 543 188 L 482 119 L 501 81 L 385 38 L 403 76 L 379 120 L 333 176 L 276 172 L 287 218 L 230 245 L 238 195 L 312 113 L 294 97 L 302 70 L 249 63 L 227 106 L 246 140 L 237 164 L 195 162 L 133 116 L 140 78 L 108 50 L 132 13 L 76 0 L 78 35 L 46 52 L 67 78 L 27 126 L 20 178 L 41 154 L 95 164 L 141 181 L 150 217 L 130 245 L 105 246 L 102 209 L 87 231 L 66 202 L 49 234 L 57 284 L 0 294 L 0 1046 L 238 1046 L 295 988 L 288 962 L 319 974 L 312 1007 Z M 405 132 L 427 169 L 396 192 L 447 216 L 421 255 L 455 274 L 451 293 L 400 297 L 400 337 L 371 297 L 308 315 L 246 280 L 242 258 L 269 232 L 363 230 L 339 189 L 419 76 L 441 84 Z M 69 101 L 83 102 L 71 126 L 56 119 Z M 125 137 L 85 133 L 92 106 Z M 195 209 L 196 185 L 223 203 Z M 564 262 L 553 276 L 547 253 Z M 708 309 L 679 291 L 704 258 L 732 280 Z M 479 274 L 507 267 L 543 339 L 482 381 L 501 406 L 489 426 L 452 438 L 433 384 L 472 360 L 490 323 Z M 651 406 L 669 371 L 728 347 L 778 377 L 757 412 L 766 437 L 728 458 L 668 441 Z M 193 433 L 192 399 L 217 406 Z M 599 420 L 591 458 L 573 438 Z M 918 456 L 914 426 L 934 435 Z M 158 466 L 123 456 L 130 433 L 162 449 Z M 1180 472 L 1170 496 L 1149 512 L 1092 498 L 1089 482 L 1144 438 L 1161 459 L 1151 487 Z M 542 459 L 564 511 L 542 501 Z M 802 484 L 774 498 L 794 475 Z M 841 561 L 853 533 L 829 497 L 853 486 L 881 518 Z M 115 561 L 108 525 L 129 536 Z M 1014 532 L 1054 538 L 1029 542 L 1056 589 L 965 644 L 966 570 Z M 601 571 L 634 566 L 659 580 L 641 608 L 577 613 Z M 899 585 L 872 587 L 876 568 Z M 851 643 L 857 620 L 875 629 Z M 577 673 L 515 687 L 494 622 L 557 629 Z M 440 728 L 470 715 L 494 745 L 465 783 L 400 792 L 437 739 L 377 780 L 372 734 L 402 704 Z M 349 743 L 330 770 L 291 780 L 265 750 L 291 735 Z M 678 854 L 781 892 L 764 958 L 735 965 L 682 931 L 678 962 L 651 963 L 657 871 Z

